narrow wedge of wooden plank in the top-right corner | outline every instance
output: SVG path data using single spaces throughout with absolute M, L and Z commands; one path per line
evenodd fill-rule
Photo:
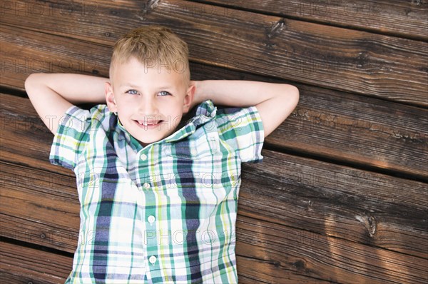
M 426 41 L 428 35 L 427 1 L 208 0 L 198 2 L 409 39 Z

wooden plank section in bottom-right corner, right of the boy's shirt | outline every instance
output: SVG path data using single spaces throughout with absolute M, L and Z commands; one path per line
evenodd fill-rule
M 242 206 L 241 206 L 242 208 Z M 262 211 L 263 212 L 263 211 Z M 262 236 L 263 235 L 263 236 Z M 428 261 L 397 255 L 337 238 L 310 234 L 263 220 L 238 219 L 237 253 L 279 269 L 334 283 L 426 283 Z M 258 265 L 254 265 L 258 270 Z M 269 280 L 287 283 L 289 273 L 270 274 Z M 315 281 L 314 281 L 315 282 Z M 300 283 L 300 282 L 293 282 Z

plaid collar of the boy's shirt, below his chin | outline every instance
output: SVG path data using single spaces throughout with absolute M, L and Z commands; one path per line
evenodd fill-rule
M 198 126 L 202 126 L 203 124 L 207 123 L 208 121 L 213 120 L 215 118 L 215 115 L 217 113 L 217 108 L 214 106 L 213 101 L 207 100 L 203 101 L 198 105 L 195 110 L 193 110 L 190 114 L 192 118 L 190 118 L 188 121 L 181 121 L 180 124 L 177 126 L 177 131 L 170 134 L 170 136 L 163 138 L 161 141 L 157 141 L 155 143 L 163 143 L 163 142 L 173 142 L 178 141 L 183 138 L 186 138 L 187 136 L 192 135 L 196 128 Z M 119 117 L 117 117 L 117 125 L 118 128 L 123 131 L 124 135 L 126 136 L 126 140 L 128 143 L 132 143 L 134 146 L 137 147 L 138 151 L 140 148 L 142 148 L 141 144 L 138 143 L 136 138 L 133 138 L 131 134 L 126 131 L 126 129 L 123 127 L 121 121 L 119 121 Z M 152 143 L 151 145 L 155 144 Z

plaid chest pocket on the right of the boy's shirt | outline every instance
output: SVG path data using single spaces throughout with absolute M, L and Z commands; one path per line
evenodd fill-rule
M 167 155 L 185 160 L 200 160 L 214 156 L 220 152 L 218 132 L 209 132 L 195 139 L 172 143 L 167 149 Z

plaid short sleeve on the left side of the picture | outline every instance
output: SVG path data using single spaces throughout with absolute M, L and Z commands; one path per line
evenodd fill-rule
M 78 156 L 88 143 L 91 112 L 77 106 L 68 108 L 60 119 L 49 160 L 54 165 L 73 170 Z

